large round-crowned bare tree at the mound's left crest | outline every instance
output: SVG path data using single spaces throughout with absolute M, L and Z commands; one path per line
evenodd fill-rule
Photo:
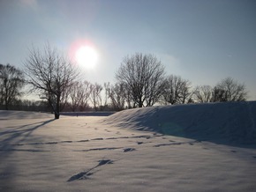
M 116 73 L 118 84 L 123 84 L 138 107 L 153 106 L 162 94 L 164 67 L 154 55 L 136 53 L 124 57 Z

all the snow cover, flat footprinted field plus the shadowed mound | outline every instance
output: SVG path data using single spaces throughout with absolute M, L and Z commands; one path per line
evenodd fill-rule
M 256 191 L 256 102 L 0 111 L 0 191 Z

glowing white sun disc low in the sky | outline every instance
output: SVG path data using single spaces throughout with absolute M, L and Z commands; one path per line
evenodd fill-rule
M 89 46 L 81 46 L 76 51 L 76 61 L 82 67 L 87 69 L 94 69 L 97 61 L 98 61 L 98 54 L 94 48 Z

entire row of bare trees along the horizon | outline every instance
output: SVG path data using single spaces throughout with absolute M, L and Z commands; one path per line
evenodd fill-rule
M 49 44 L 43 50 L 31 48 L 24 70 L 0 64 L 0 107 L 52 111 L 115 110 L 150 107 L 155 104 L 226 102 L 246 100 L 244 84 L 224 78 L 215 86 L 198 85 L 177 75 L 166 75 L 156 56 L 135 53 L 124 57 L 115 74 L 114 85 L 81 80 L 79 69 Z M 25 85 L 41 101 L 20 100 Z

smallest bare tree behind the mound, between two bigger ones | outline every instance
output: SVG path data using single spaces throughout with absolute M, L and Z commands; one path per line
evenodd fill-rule
M 197 86 L 194 98 L 200 103 L 207 103 L 212 100 L 213 88 L 210 85 Z

